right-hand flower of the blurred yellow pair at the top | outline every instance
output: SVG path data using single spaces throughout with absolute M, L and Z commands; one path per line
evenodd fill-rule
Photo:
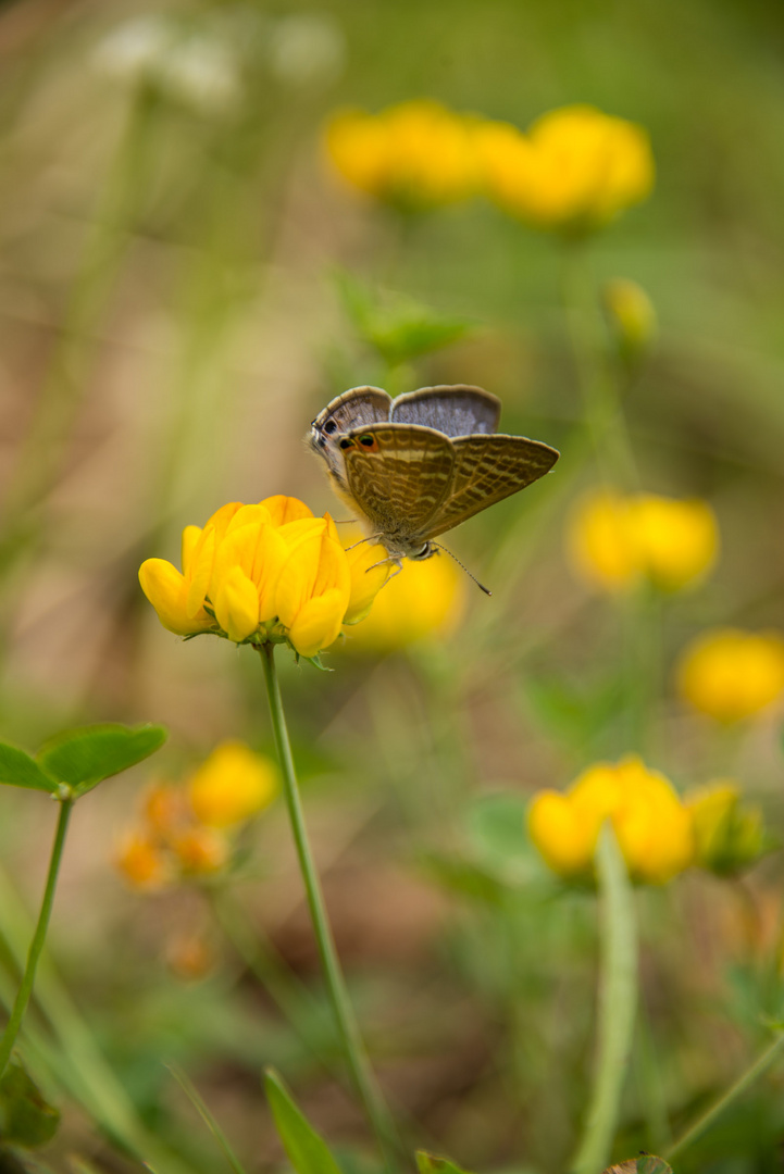
M 654 183 L 642 127 L 590 106 L 552 110 L 527 135 L 487 122 L 475 139 L 488 194 L 538 228 L 597 228 L 644 200 Z

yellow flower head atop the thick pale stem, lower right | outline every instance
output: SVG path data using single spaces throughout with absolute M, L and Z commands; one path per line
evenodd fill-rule
M 567 879 L 593 877 L 606 819 L 634 880 L 664 884 L 691 864 L 690 812 L 669 781 L 634 755 L 589 767 L 566 794 L 539 791 L 528 808 L 532 841 L 553 871 Z

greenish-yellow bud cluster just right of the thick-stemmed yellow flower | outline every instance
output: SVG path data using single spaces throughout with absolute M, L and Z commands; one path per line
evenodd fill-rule
M 765 849 L 762 810 L 743 803 L 731 778 L 716 780 L 687 795 L 695 832 L 695 864 L 717 876 L 734 876 Z

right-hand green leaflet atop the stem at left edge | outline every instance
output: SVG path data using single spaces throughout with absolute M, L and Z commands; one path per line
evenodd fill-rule
M 38 761 L 59 783 L 77 797 L 110 775 L 135 767 L 167 740 L 162 726 L 83 726 L 65 730 L 46 742 Z

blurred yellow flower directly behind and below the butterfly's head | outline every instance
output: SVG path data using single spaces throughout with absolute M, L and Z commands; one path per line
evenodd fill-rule
M 464 578 L 448 556 L 406 559 L 403 571 L 376 596 L 367 619 L 347 633 L 346 647 L 387 653 L 452 632 L 465 609 Z

